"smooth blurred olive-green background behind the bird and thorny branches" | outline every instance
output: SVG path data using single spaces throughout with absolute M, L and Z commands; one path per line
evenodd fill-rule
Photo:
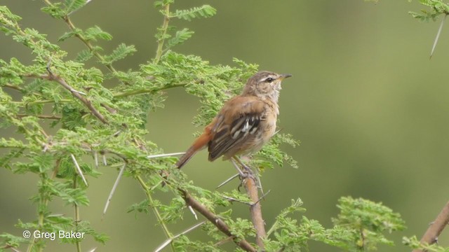
M 339 197 L 364 197 L 401 213 L 408 225 L 393 235 L 395 247 L 382 246 L 379 251 L 409 251 L 401 245 L 401 237 L 421 237 L 448 201 L 449 28 L 444 27 L 429 60 L 439 22 L 414 20 L 408 11 L 424 8 L 417 1 L 198 0 L 177 1 L 172 8 L 204 3 L 217 8 L 215 17 L 173 20 L 172 25 L 195 31 L 175 51 L 199 55 L 210 64 L 233 64 L 232 57 L 238 57 L 259 64 L 261 70 L 293 74 L 283 84 L 279 126 L 302 141 L 299 148 L 283 146 L 300 168 L 277 167 L 263 174 L 264 189 L 272 190 L 262 202 L 267 225 L 290 199 L 300 197 L 306 216 L 330 227 Z M 65 23 L 40 12 L 41 1 L 2 0 L 0 4 L 22 16 L 22 27 L 38 29 L 52 41 L 67 31 Z M 154 57 L 154 33 L 162 17 L 152 1 L 94 0 L 72 20 L 83 29 L 98 25 L 111 33 L 113 41 L 100 43 L 106 52 L 119 43 L 135 45 L 138 52 L 116 64 L 117 69 L 127 70 Z M 70 52 L 69 58 L 83 49 L 74 38 L 59 44 Z M 29 50 L 11 37 L 0 34 L 0 45 L 1 59 L 30 62 Z M 185 151 L 199 130 L 190 123 L 198 107 L 198 99 L 181 88 L 169 90 L 166 108 L 149 114 L 147 139 L 167 153 Z M 0 137 L 11 134 L 2 130 Z M 91 206 L 81 208 L 81 218 L 111 240 L 102 246 L 88 238 L 83 250 L 99 246 L 97 251 L 152 251 L 159 246 L 165 237 L 152 214 L 137 218 L 126 214 L 130 204 L 145 199 L 135 181 L 121 181 L 101 220 L 117 173 L 106 167 L 100 172 L 105 175 L 90 179 Z M 184 172 L 197 186 L 213 190 L 234 174 L 234 168 L 221 160 L 208 163 L 203 152 Z M 17 176 L 0 169 L 0 232 L 21 235 L 23 230 L 14 228 L 18 219 L 36 218 L 36 208 L 28 200 L 36 193 L 36 181 L 32 174 Z M 225 190 L 236 186 L 234 181 Z M 59 201 L 52 208 L 55 213 L 72 214 Z M 236 215 L 248 216 L 247 207 L 234 209 Z M 187 212 L 185 221 L 170 228 L 176 232 L 193 223 Z M 438 239 L 445 246 L 447 233 Z M 192 235 L 201 239 L 201 230 Z M 47 251 L 61 249 L 75 250 L 56 241 L 48 243 Z M 312 242 L 310 251 L 339 250 Z

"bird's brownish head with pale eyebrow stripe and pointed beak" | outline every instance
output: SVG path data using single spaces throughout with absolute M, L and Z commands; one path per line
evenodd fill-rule
M 243 95 L 255 95 L 262 99 L 272 99 L 278 102 L 281 82 L 291 74 L 278 74 L 270 71 L 260 71 L 248 79 L 243 88 Z

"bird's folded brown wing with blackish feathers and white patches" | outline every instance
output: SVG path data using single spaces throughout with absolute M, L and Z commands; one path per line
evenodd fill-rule
M 238 151 L 245 141 L 255 137 L 264 120 L 264 102 L 257 97 L 235 97 L 223 106 L 215 117 L 209 142 L 209 160 L 213 161 L 228 151 Z

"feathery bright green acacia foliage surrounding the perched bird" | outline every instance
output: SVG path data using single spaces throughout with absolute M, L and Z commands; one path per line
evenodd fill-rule
M 96 231 L 89 221 L 79 217 L 80 207 L 88 207 L 90 203 L 86 194 L 90 178 L 101 177 L 97 168 L 102 165 L 117 169 L 140 185 L 147 198 L 130 206 L 129 212 L 151 212 L 139 218 L 156 218 L 166 239 L 173 241 L 170 242 L 173 251 L 222 251 L 217 244 L 227 240 L 234 241 L 237 251 L 245 249 L 243 246 L 238 248 L 239 243 L 244 240 L 251 243 L 255 237 L 250 216 L 233 218 L 229 207 L 232 202 L 251 204 L 246 194 L 238 190 L 221 192 L 194 186 L 182 171 L 173 167 L 176 158 L 158 157 L 163 150 L 157 143 L 145 140 L 147 114 L 163 109 L 167 98 L 164 90 L 184 88 L 187 94 L 199 97 L 201 106 L 193 123 L 203 126 L 257 71 L 256 64 L 236 58 L 234 66 L 213 65 L 199 56 L 175 52 L 175 46 L 187 41 L 194 32 L 187 28 L 177 29 L 170 25 L 170 20 L 210 18 L 215 15 L 215 8 L 204 5 L 170 10 L 173 0 L 156 1 L 154 6 L 163 16 L 163 24 L 157 28 L 154 58 L 137 69 L 120 71 L 114 64 L 133 55 L 137 49 L 121 43 L 112 52 L 105 52 L 96 43 L 112 40 L 111 34 L 95 25 L 87 29 L 76 27 L 70 17 L 76 15 L 76 10 L 85 6 L 86 1 L 44 2 L 43 13 L 69 27 L 55 42 L 35 29 L 22 27 L 21 17 L 11 13 L 6 6 L 0 6 L 1 31 L 29 48 L 33 57 L 31 64 L 16 58 L 8 62 L 0 59 L 0 127 L 13 128 L 20 134 L 20 137 L 0 139 L 0 148 L 8 150 L 0 158 L 0 167 L 17 176 L 34 174 L 39 177 L 38 193 L 31 199 L 36 208 L 36 219 L 27 223 L 19 220 L 16 227 L 41 232 L 85 232 L 107 246 L 107 234 Z M 429 20 L 448 14 L 449 7 L 442 1 L 421 3 L 430 6 L 430 10 L 413 13 L 415 18 Z M 77 38 L 86 49 L 79 52 L 62 50 L 59 43 L 69 38 Z M 11 90 L 20 92 L 20 99 L 14 99 Z M 51 121 L 52 134 L 48 133 L 48 121 Z M 275 165 L 297 167 L 295 160 L 281 151 L 281 144 L 295 147 L 299 141 L 290 134 L 276 134 L 270 144 L 253 157 L 250 166 L 261 173 L 274 169 Z M 101 164 L 103 158 L 105 162 Z M 170 176 L 162 176 L 163 172 Z M 166 186 L 163 187 L 163 183 Z M 158 198 L 160 195 L 169 195 L 170 202 L 162 203 Z M 227 232 L 219 230 L 210 221 L 201 225 L 205 237 L 201 241 L 189 239 L 188 232 L 175 235 L 168 228 L 168 224 L 181 222 L 183 214 L 189 213 L 186 205 L 189 197 L 227 224 L 232 234 L 230 239 Z M 50 202 L 56 199 L 72 206 L 74 214 L 55 215 Z M 269 204 L 269 200 L 264 204 Z M 272 220 L 274 224 L 267 226 L 266 250 L 307 251 L 309 241 L 318 241 L 345 251 L 375 251 L 380 244 L 394 245 L 387 235 L 405 228 L 401 216 L 382 203 L 342 197 L 337 208 L 340 214 L 332 219 L 333 227 L 325 228 L 319 221 L 306 217 L 300 199 L 292 200 L 290 207 Z M 0 251 L 8 248 L 44 251 L 48 242 L 8 233 L 0 237 Z M 60 241 L 74 244 L 77 251 L 82 251 L 82 239 Z M 404 244 L 413 248 L 422 246 L 415 237 L 404 238 Z M 255 247 L 254 244 L 251 246 Z M 436 245 L 422 248 L 448 251 L 448 248 Z

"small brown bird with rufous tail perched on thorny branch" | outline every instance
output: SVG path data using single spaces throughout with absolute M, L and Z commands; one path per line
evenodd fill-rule
M 225 103 L 176 166 L 183 167 L 206 146 L 209 161 L 220 156 L 227 160 L 259 151 L 276 132 L 281 82 L 290 76 L 270 71 L 255 73 L 243 92 Z

